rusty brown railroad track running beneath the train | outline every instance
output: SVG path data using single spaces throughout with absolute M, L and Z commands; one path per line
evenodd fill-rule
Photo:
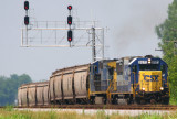
M 17 107 L 27 108 L 27 107 Z M 171 105 L 53 105 L 32 106 L 28 108 L 53 108 L 53 109 L 122 109 L 122 110 L 177 110 Z

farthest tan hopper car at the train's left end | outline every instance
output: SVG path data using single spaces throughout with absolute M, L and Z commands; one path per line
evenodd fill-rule
M 20 107 L 49 105 L 49 82 L 30 83 L 18 89 L 18 105 Z

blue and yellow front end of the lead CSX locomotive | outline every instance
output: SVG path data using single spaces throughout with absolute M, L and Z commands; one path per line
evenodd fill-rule
M 163 60 L 134 58 L 129 67 L 133 97 L 136 102 L 169 102 L 167 64 Z

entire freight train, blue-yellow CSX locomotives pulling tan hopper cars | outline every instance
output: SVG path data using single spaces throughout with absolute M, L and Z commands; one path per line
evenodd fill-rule
M 169 104 L 168 66 L 128 56 L 58 69 L 48 82 L 21 85 L 18 106 Z

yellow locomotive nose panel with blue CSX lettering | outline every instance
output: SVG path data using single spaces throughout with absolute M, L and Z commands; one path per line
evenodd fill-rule
M 155 93 L 162 90 L 162 71 L 139 71 L 139 89 Z

